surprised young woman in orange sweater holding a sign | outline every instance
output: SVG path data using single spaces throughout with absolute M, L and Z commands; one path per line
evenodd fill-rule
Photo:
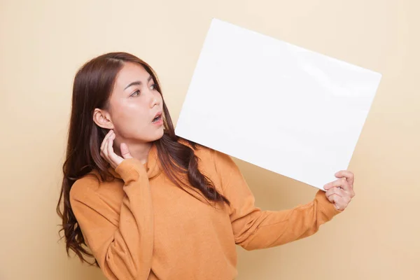
M 108 279 L 235 279 L 235 244 L 313 235 L 354 196 L 344 170 L 308 204 L 261 211 L 228 155 L 176 137 L 155 72 L 125 52 L 76 73 L 63 172 L 66 251 Z

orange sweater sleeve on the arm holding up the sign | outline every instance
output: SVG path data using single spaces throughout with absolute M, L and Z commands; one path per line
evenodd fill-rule
M 342 211 L 318 190 L 314 200 L 282 211 L 261 211 L 235 162 L 215 151 L 216 169 L 221 176 L 223 195 L 230 200 L 230 221 L 235 243 L 246 250 L 269 248 L 309 237 L 323 223 Z

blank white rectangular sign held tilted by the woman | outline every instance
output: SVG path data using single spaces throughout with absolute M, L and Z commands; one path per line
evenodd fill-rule
M 176 134 L 323 189 L 348 168 L 380 79 L 214 19 Z

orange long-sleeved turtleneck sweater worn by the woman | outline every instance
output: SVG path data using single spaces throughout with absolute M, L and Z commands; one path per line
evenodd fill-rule
M 71 208 L 108 279 L 235 279 L 235 244 L 246 250 L 285 244 L 313 235 L 341 212 L 322 190 L 295 209 L 261 211 L 228 155 L 204 147 L 195 154 L 230 207 L 176 187 L 161 172 L 155 145 L 146 165 L 127 159 L 111 170 L 114 181 L 91 172 L 74 183 Z

